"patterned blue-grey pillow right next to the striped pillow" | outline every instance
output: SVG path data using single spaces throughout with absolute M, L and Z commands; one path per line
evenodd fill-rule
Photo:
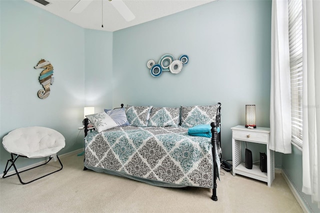
M 145 127 L 148 124 L 152 106 L 131 106 L 127 105 L 125 114 L 130 125 Z

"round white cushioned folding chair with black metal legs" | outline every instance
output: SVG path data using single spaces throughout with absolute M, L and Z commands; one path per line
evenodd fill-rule
M 49 174 L 52 174 L 56 171 L 59 171 L 63 167 L 57 155 L 57 152 L 65 146 L 65 139 L 60 132 L 54 129 L 42 127 L 42 126 L 29 126 L 29 127 L 17 128 L 10 131 L 7 135 L 3 137 L 2 145 L 5 148 L 5 150 L 10 152 L 11 154 L 11 158 L 8 159 L 6 162 L 2 178 L 17 174 L 20 182 L 22 184 L 27 184 L 29 182 L 33 182 L 34 180 L 37 180 Z M 23 182 L 19 175 L 19 173 L 23 171 L 18 171 L 14 164 L 15 161 L 18 159 L 18 157 L 25 157 L 25 158 L 49 157 L 48 160 L 46 160 L 46 162 L 28 169 L 25 169 L 23 171 L 30 170 L 32 168 L 44 165 L 47 162 L 49 162 L 52 158 L 59 160 L 61 168 L 53 172 L 50 172 L 48 174 L 45 174 L 41 177 L 35 178 L 31 181 Z M 9 162 L 11 162 L 11 164 L 8 167 Z M 9 171 L 9 169 L 11 168 L 11 166 L 14 167 L 15 173 L 5 176 Z

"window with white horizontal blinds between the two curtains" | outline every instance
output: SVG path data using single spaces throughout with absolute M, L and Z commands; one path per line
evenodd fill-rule
M 292 142 L 302 147 L 302 0 L 288 0 Z

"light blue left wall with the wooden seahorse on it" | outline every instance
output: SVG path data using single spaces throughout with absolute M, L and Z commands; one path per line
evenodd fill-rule
M 64 135 L 61 153 L 81 148 L 77 127 L 84 106 L 84 29 L 23 0 L 0 1 L 0 26 L 0 140 L 12 129 L 39 125 Z M 45 99 L 37 96 L 41 70 L 33 68 L 41 58 L 54 69 Z M 0 145 L 1 171 L 8 158 Z M 19 167 L 30 164 L 19 162 Z

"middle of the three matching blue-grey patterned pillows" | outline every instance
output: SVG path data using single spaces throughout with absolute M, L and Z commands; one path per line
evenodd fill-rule
M 179 107 L 152 107 L 148 126 L 177 126 Z

